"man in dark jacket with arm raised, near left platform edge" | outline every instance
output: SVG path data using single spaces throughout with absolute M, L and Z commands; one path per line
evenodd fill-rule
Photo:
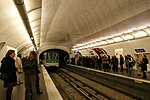
M 31 51 L 29 57 L 24 62 L 24 72 L 25 72 L 25 100 L 37 100 L 36 92 L 36 74 L 38 69 L 38 62 L 36 59 L 36 52 Z M 32 97 L 30 93 L 32 91 Z

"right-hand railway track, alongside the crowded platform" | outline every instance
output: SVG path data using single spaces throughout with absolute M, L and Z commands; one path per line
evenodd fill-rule
M 71 85 L 78 94 L 82 94 L 81 98 L 78 97 L 76 100 L 134 100 L 133 98 L 126 96 L 124 94 L 114 92 L 114 90 L 108 89 L 107 87 L 101 86 L 99 83 L 92 82 L 82 76 L 79 76 L 73 72 L 66 69 L 59 69 L 59 76 L 69 85 Z M 52 76 L 52 75 L 51 75 Z M 53 78 L 52 78 L 53 79 Z M 58 79 L 55 79 L 58 81 Z M 54 82 L 55 83 L 55 82 Z M 64 84 L 63 82 L 58 84 Z M 62 89 L 64 89 L 62 87 Z M 62 90 L 60 89 L 60 90 Z M 59 90 L 59 89 L 58 89 Z M 110 93 L 112 92 L 112 94 Z M 66 93 L 69 97 L 70 94 Z M 74 93 L 75 94 L 75 93 Z M 69 97 L 70 100 L 71 97 Z M 69 100 L 65 99 L 65 100 Z M 74 99 L 75 100 L 75 99 Z

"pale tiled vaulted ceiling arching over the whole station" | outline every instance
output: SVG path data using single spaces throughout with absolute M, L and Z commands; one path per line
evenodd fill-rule
M 150 0 L 24 0 L 29 32 L 19 1 L 0 2 L 0 42 L 22 51 L 32 46 L 31 34 L 38 48 L 71 48 L 150 25 Z

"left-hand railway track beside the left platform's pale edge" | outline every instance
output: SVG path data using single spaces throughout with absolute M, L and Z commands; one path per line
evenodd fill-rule
M 87 100 L 58 73 L 50 73 L 50 76 L 64 100 Z

